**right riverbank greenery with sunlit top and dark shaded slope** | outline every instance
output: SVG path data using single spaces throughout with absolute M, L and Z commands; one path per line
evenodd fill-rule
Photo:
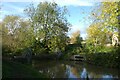
M 77 53 L 76 50 L 72 50 L 72 48 L 73 47 L 71 47 L 71 49 L 67 49 L 69 51 L 66 51 L 62 59 L 69 60 L 72 57 L 74 58 L 74 55 L 84 55 L 84 62 L 89 64 L 107 68 L 120 68 L 120 47 L 103 47 L 96 50 L 96 52 L 90 52 L 89 50 L 87 51 L 87 49 L 85 49 L 83 52 L 78 51 L 79 53 Z M 75 47 L 75 49 L 77 48 Z M 74 54 L 72 54 L 72 52 L 74 52 Z

